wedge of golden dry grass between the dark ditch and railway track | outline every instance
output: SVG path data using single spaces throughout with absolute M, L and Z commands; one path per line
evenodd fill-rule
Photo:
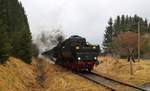
M 45 91 L 109 91 L 53 64 L 45 64 Z

